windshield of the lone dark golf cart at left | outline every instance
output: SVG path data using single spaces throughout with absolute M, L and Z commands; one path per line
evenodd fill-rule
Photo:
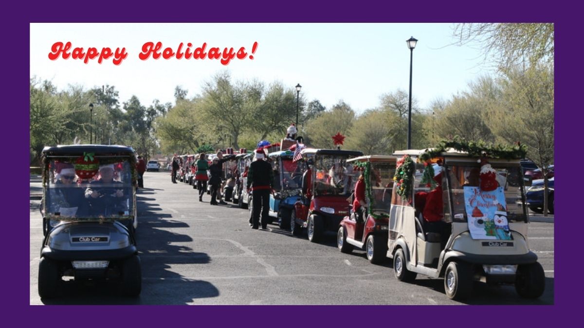
M 97 158 L 97 156 L 96 156 Z M 131 164 L 99 158 L 99 163 L 51 159 L 44 190 L 45 217 L 60 220 L 128 218 L 134 212 Z

